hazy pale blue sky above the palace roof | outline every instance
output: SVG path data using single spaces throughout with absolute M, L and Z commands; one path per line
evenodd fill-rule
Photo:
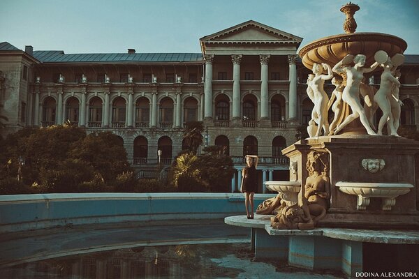
M 312 40 L 344 33 L 348 0 L 1 0 L 0 42 L 65 53 L 200 52 L 199 38 L 247 20 Z M 357 32 L 389 33 L 419 54 L 418 0 L 354 0 Z

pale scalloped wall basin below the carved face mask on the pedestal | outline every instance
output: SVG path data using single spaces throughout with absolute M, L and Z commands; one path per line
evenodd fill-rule
M 371 183 L 371 182 L 349 182 L 339 181 L 336 183 L 339 190 L 348 195 L 357 195 L 356 208 L 365 210 L 369 205 L 371 197 L 381 197 L 383 211 L 390 211 L 396 204 L 396 197 L 409 193 L 412 184 L 409 183 Z

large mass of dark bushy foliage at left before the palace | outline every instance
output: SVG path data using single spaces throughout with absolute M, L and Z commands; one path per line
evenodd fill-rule
M 20 188 L 20 193 L 112 191 L 118 175 L 131 170 L 124 146 L 108 132 L 87 135 L 68 125 L 25 128 L 1 143 L 0 193 L 10 192 L 7 187 Z M 20 156 L 26 159 L 23 181 L 15 182 Z

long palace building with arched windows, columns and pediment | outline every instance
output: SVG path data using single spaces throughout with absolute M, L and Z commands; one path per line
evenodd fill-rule
M 139 176 L 182 150 L 188 121 L 205 124 L 204 145 L 226 146 L 241 181 L 244 155 L 259 156 L 263 181 L 288 179 L 293 144 L 311 119 L 302 38 L 252 20 L 200 38 L 201 53 L 66 54 L 0 43 L 3 136 L 64 121 L 112 131 Z M 419 55 L 400 66 L 402 126 L 419 129 Z M 378 86 L 379 74 L 370 79 Z M 325 85 L 332 93 L 334 86 Z M 303 127 L 303 128 L 301 128 Z M 159 156 L 158 150 L 161 150 Z

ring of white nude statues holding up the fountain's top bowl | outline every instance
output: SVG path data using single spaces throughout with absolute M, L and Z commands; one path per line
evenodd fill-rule
M 403 63 L 404 56 L 396 54 L 390 58 L 385 52 L 378 51 L 374 58 L 376 62 L 369 67 L 365 66 L 366 56 L 364 54 L 355 56 L 348 54 L 333 68 L 327 63 L 313 64 L 313 74 L 307 78 L 307 95 L 314 103 L 311 121 L 307 128 L 310 137 L 318 137 L 322 131 L 323 135 L 337 135 L 357 118 L 360 119 L 368 135 L 383 135 L 383 127 L 387 123 L 388 135 L 398 136 L 400 106 L 403 103 L 399 100 L 400 72 L 397 67 Z M 364 74 L 374 71 L 378 66 L 383 68 L 383 73 L 379 89 L 376 90 L 374 86 L 365 84 Z M 323 70 L 327 70 L 327 75 L 323 74 Z M 333 72 L 340 77 L 333 77 Z M 335 85 L 335 90 L 329 100 L 323 86 L 325 80 L 330 79 Z M 363 106 L 360 96 L 364 98 L 365 105 Z M 351 114 L 343 119 L 344 103 L 351 108 Z M 335 116 L 329 125 L 328 110 L 330 107 L 332 107 Z M 381 116 L 376 129 L 373 116 L 378 107 L 382 110 L 383 116 Z

